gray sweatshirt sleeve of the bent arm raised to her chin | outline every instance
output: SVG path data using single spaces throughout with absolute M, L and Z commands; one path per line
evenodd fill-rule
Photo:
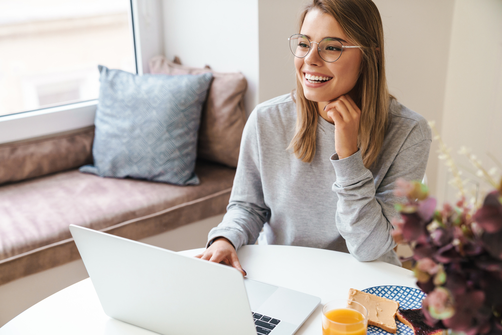
M 391 219 L 398 215 L 394 204 L 402 200 L 394 195 L 396 180 L 422 180 L 430 145 L 426 138 L 398 152 L 378 189 L 360 150 L 344 159 L 331 156 L 336 173 L 332 190 L 338 195 L 336 227 L 357 260 L 378 259 L 396 246 Z

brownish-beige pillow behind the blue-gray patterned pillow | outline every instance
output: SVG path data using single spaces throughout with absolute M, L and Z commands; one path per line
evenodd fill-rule
M 247 81 L 242 73 L 183 66 L 164 56 L 153 57 L 149 65 L 152 74 L 213 74 L 207 101 L 202 108 L 197 157 L 236 167 L 246 122 L 243 97 Z

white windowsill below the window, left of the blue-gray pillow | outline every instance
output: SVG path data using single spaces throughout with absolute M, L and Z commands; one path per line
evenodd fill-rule
M 94 125 L 97 100 L 0 117 L 0 144 Z

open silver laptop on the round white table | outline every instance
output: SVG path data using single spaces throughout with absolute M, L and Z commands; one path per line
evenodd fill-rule
M 292 335 L 319 305 L 229 266 L 70 225 L 104 312 L 164 335 Z

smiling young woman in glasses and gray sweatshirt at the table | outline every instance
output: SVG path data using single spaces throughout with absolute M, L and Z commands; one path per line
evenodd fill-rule
M 388 92 L 378 9 L 312 0 L 290 48 L 297 89 L 249 116 L 227 213 L 197 257 L 245 274 L 236 250 L 263 229 L 260 242 L 401 265 L 393 190 L 423 178 L 431 131 Z

